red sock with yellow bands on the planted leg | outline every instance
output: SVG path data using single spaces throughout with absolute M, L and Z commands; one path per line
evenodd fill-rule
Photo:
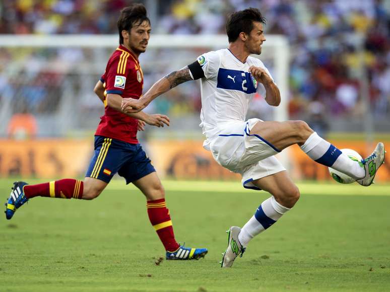
M 165 199 L 147 201 L 146 203 L 150 223 L 156 230 L 165 250 L 175 251 L 180 246 L 175 240 L 171 217 L 166 205 Z

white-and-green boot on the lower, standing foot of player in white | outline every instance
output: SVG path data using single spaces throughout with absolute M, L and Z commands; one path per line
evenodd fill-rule
M 240 233 L 241 228 L 237 226 L 232 226 L 227 231 L 228 233 L 228 247 L 226 251 L 222 254 L 222 261 L 220 262 L 222 268 L 230 268 L 239 255 L 242 257 L 242 254 L 245 252 L 246 248 L 243 247 L 238 240 L 238 234 Z

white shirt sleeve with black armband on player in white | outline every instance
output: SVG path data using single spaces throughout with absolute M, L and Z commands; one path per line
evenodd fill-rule
M 221 58 L 219 54 L 215 51 L 211 51 L 200 55 L 197 61 L 191 65 L 188 65 L 188 68 L 192 74 L 193 79 L 199 79 L 203 77 L 206 79 L 211 79 L 217 76 L 220 63 Z M 202 71 L 199 71 L 199 67 Z

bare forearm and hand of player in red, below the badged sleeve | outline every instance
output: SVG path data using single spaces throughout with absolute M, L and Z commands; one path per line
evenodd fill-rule
M 110 108 L 117 110 L 119 112 L 122 112 L 121 110 L 121 104 L 122 104 L 122 97 L 118 94 L 107 94 L 106 97 L 107 100 L 107 106 Z M 145 112 L 138 112 L 138 113 L 124 113 L 132 118 L 144 121 L 148 125 L 156 126 L 156 127 L 163 127 L 164 124 L 169 126 L 169 118 L 166 115 L 162 114 L 147 114 Z

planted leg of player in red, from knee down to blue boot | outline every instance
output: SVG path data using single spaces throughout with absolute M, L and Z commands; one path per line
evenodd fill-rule
M 191 260 L 204 257 L 207 249 L 187 248 L 176 242 L 169 209 L 166 207 L 165 191 L 157 173 L 152 172 L 133 183 L 146 196 L 149 220 L 164 245 L 166 259 Z

